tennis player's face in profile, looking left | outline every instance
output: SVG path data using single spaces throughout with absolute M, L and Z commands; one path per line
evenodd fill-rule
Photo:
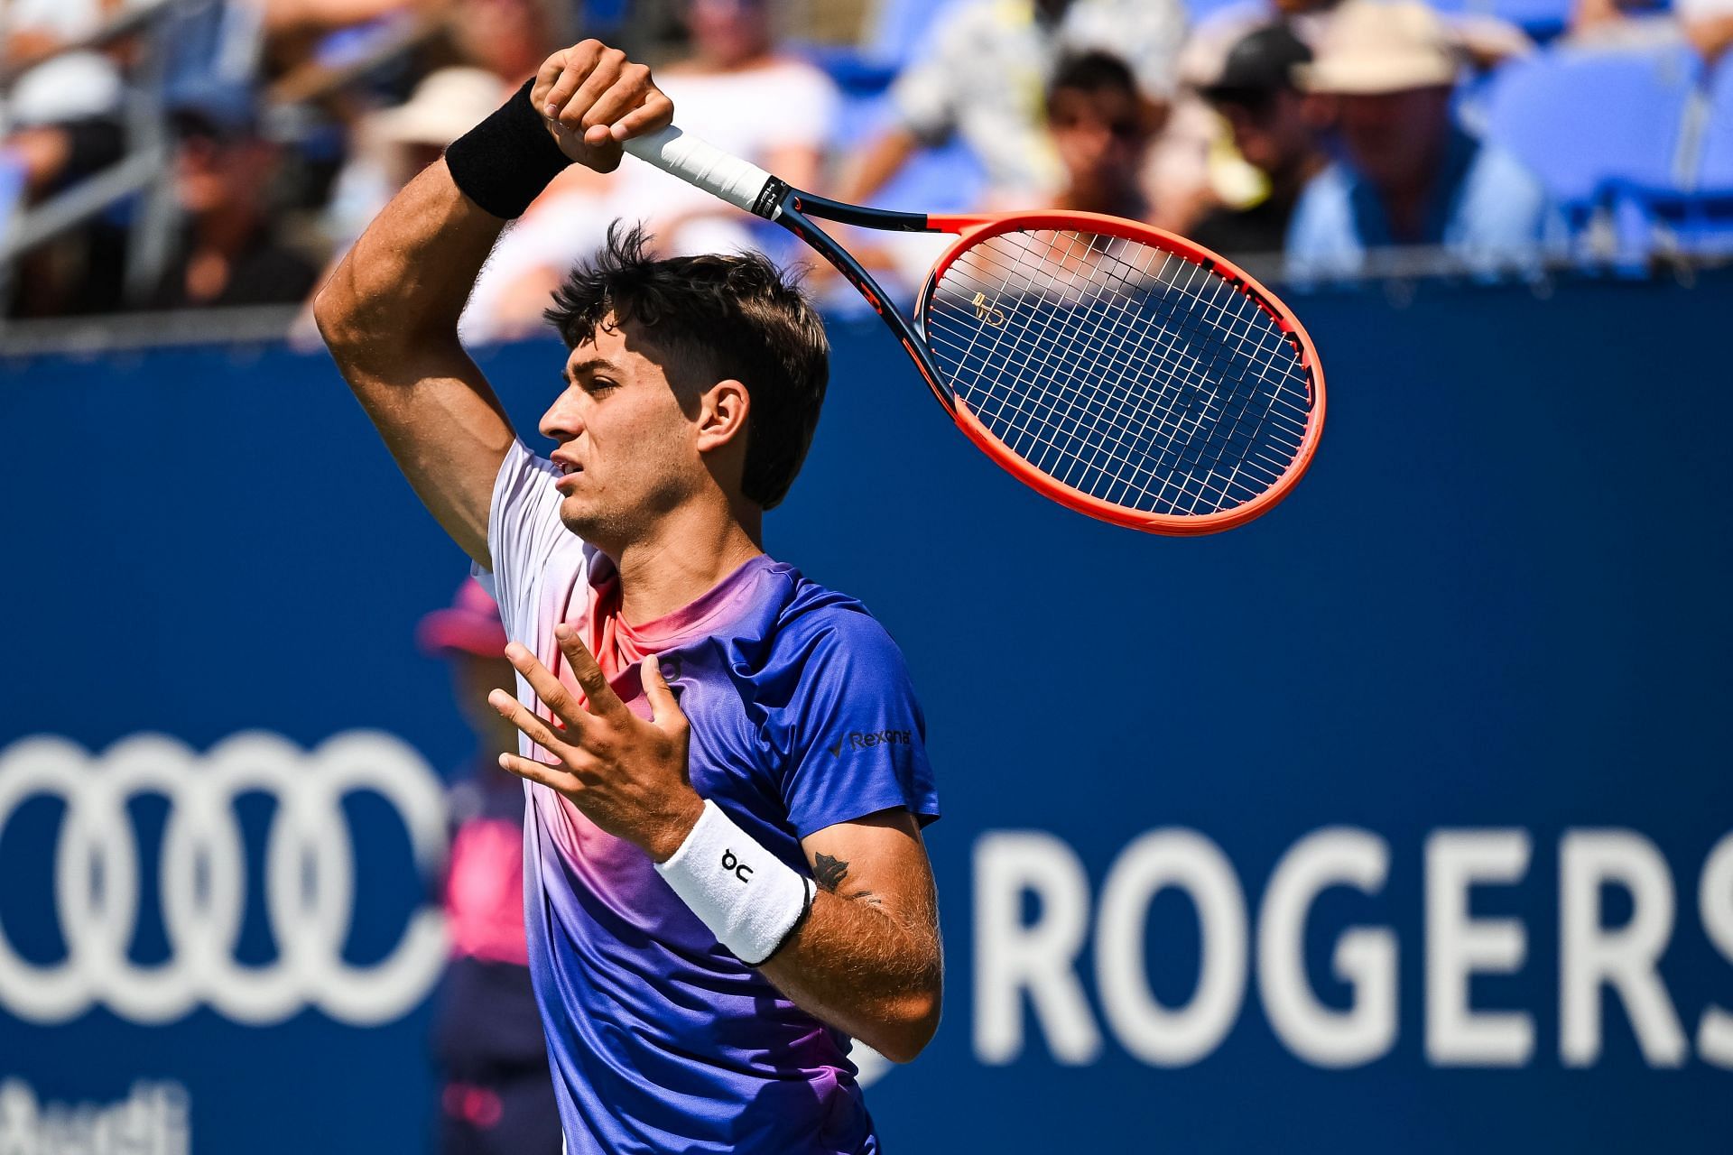
M 705 483 L 697 400 L 676 391 L 662 353 L 634 326 L 598 329 L 565 362 L 565 390 L 542 414 L 561 476 L 560 519 L 619 556 Z

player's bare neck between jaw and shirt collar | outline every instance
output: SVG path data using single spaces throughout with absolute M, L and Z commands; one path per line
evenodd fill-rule
M 717 514 L 688 506 L 613 558 L 620 616 L 638 625 L 691 604 L 764 552 L 763 511 L 742 502 Z

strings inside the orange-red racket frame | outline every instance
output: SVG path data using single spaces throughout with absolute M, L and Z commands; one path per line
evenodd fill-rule
M 927 338 L 1007 448 L 1142 513 L 1244 504 L 1305 438 L 1310 379 L 1291 338 L 1234 282 L 1151 244 L 988 237 L 934 286 Z

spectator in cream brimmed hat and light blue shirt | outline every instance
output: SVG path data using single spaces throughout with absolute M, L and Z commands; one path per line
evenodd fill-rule
M 1470 263 L 1534 258 L 1558 227 L 1541 182 L 1451 116 L 1457 45 L 1418 0 L 1347 0 L 1300 71 L 1343 159 L 1307 182 L 1288 232 L 1296 275 L 1343 275 L 1366 251 L 1444 246 Z

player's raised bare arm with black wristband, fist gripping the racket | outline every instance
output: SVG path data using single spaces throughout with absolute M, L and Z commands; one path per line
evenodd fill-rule
M 492 568 L 487 511 L 511 423 L 458 341 L 499 232 L 570 161 L 598 171 L 667 125 L 650 69 L 586 40 L 399 192 L 314 300 L 314 320 L 421 502 Z M 551 374 L 549 374 L 551 376 Z

